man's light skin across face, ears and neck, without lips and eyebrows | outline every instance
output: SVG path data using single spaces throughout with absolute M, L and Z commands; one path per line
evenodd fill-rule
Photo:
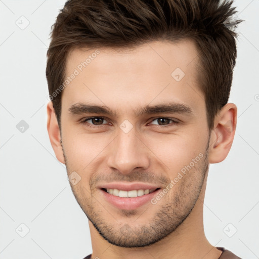
M 94 51 L 73 50 L 66 74 L 73 73 Z M 197 82 L 198 52 L 191 40 L 177 44 L 153 41 L 131 50 L 99 51 L 63 90 L 61 130 L 51 102 L 47 108 L 56 157 L 66 164 L 68 175 L 76 171 L 81 177 L 71 188 L 90 220 L 92 258 L 217 259 L 222 252 L 204 234 L 203 201 L 209 164 L 223 161 L 230 151 L 236 105 L 226 104 L 209 132 L 204 96 Z M 185 73 L 180 81 L 171 76 L 176 68 Z M 140 117 L 134 113 L 143 106 L 167 102 L 188 105 L 193 113 Z M 71 114 L 69 108 L 78 103 L 107 106 L 117 116 Z M 101 127 L 91 119 L 82 123 L 92 116 L 104 118 Z M 158 118 L 169 120 L 159 125 Z M 133 126 L 128 133 L 120 128 L 125 119 Z M 103 183 L 124 181 L 157 183 L 162 190 L 199 154 L 199 161 L 156 204 L 119 209 L 107 202 L 98 188 Z

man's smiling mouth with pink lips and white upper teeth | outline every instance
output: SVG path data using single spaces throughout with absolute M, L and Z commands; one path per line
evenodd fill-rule
M 143 184 L 123 185 L 120 183 L 120 185 L 107 184 L 99 189 L 105 202 L 119 209 L 132 210 L 144 204 L 152 204 L 151 199 L 158 194 L 161 187 Z

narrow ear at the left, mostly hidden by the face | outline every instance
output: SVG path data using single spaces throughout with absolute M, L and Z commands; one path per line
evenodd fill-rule
M 65 164 L 64 154 L 61 146 L 61 135 L 59 130 L 58 121 L 56 118 L 55 110 L 53 108 L 52 102 L 47 105 L 48 122 L 47 129 L 51 141 L 52 148 L 56 154 L 57 159 Z

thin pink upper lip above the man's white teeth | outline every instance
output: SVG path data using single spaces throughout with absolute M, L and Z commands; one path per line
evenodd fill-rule
M 118 189 L 121 191 L 132 191 L 132 190 L 147 190 L 147 189 L 157 189 L 161 188 L 160 186 L 154 184 L 147 183 L 122 183 L 122 182 L 114 182 L 103 184 L 99 187 L 100 189 Z

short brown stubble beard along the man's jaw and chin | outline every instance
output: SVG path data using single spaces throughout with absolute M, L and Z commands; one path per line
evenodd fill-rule
M 144 247 L 152 245 L 159 240 L 165 238 L 170 233 L 174 232 L 190 215 L 194 205 L 196 204 L 200 195 L 205 176 L 208 172 L 208 145 L 205 150 L 205 155 L 187 174 L 181 179 L 157 204 L 150 206 L 157 206 L 152 222 L 146 224 L 134 224 L 135 227 L 128 223 L 121 223 L 115 220 L 118 215 L 110 216 L 112 220 L 109 221 L 105 217 L 107 212 L 100 204 L 100 199 L 94 197 L 93 193 L 89 192 L 81 186 L 73 186 L 70 183 L 72 192 L 87 216 L 92 222 L 98 233 L 109 243 L 120 247 Z M 63 149 L 63 147 L 62 147 Z M 63 149 L 65 164 L 67 171 L 69 171 L 69 162 L 65 156 Z M 161 190 L 162 191 L 162 190 Z M 85 195 L 88 194 L 88 195 Z M 88 197 L 87 197 L 88 196 Z M 166 201 L 166 202 L 165 202 Z M 121 210 L 119 217 L 124 216 L 125 221 L 128 218 L 145 217 L 148 215 L 147 209 L 141 216 L 136 210 Z

